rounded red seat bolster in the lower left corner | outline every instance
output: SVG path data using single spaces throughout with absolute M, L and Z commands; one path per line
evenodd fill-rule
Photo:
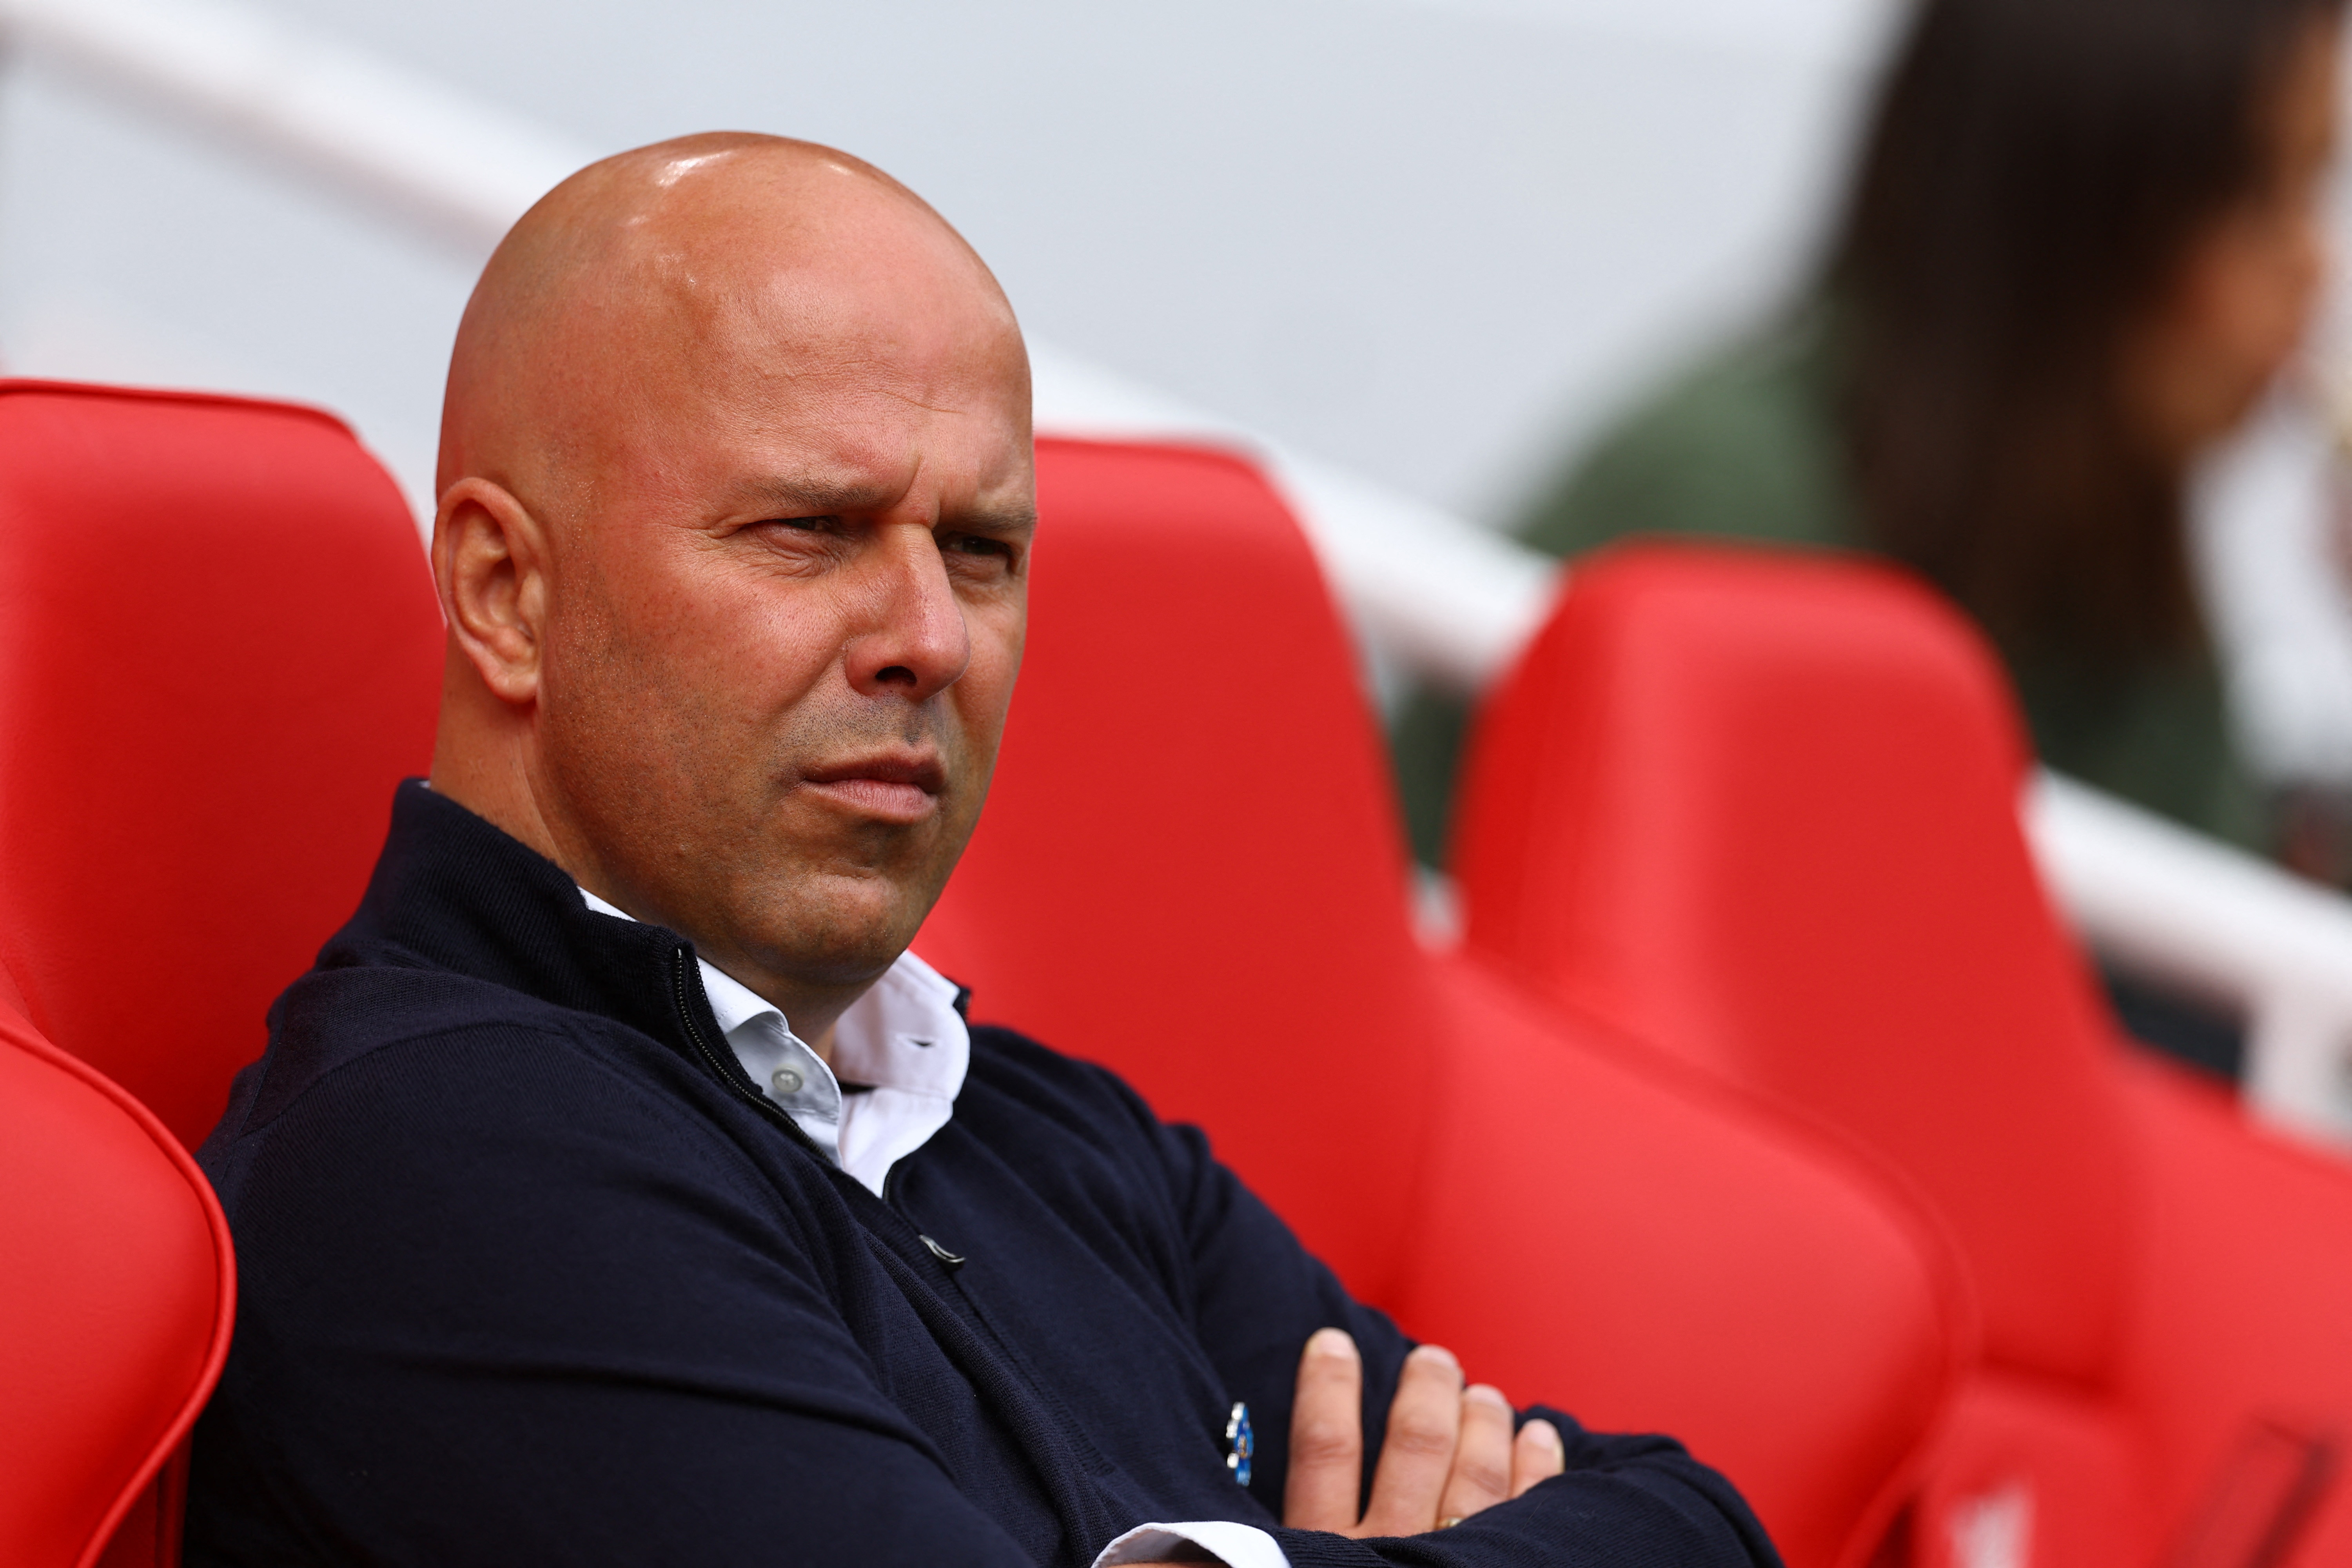
M 228 1222 L 195 1161 L 0 1009 L 0 1561 L 92 1568 L 111 1542 L 122 1568 L 176 1561 L 153 1493 L 233 1319 Z

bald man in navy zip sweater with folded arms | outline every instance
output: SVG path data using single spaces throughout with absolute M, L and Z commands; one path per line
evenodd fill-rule
M 1035 531 L 1021 331 L 915 195 L 583 169 L 466 308 L 440 491 L 433 778 L 200 1154 L 191 1563 L 1773 1561 L 908 952 Z

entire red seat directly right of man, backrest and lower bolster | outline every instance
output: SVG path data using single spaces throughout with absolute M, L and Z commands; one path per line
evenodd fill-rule
M 1406 919 L 1352 654 L 1244 463 L 1040 442 L 1030 644 L 917 950 L 1204 1124 L 1472 1375 L 1686 1436 L 1790 1563 L 1858 1563 L 1969 1338 L 1856 1159 Z

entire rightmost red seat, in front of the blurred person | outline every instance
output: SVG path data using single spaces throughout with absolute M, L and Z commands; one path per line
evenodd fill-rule
M 2119 1044 L 2034 875 L 2025 766 L 1997 661 L 1907 576 L 1609 550 L 1479 715 L 1468 943 L 1828 1117 L 1943 1213 L 1985 1363 L 1919 1561 L 2279 1563 L 2312 1502 L 2291 1561 L 2352 1561 L 2324 1490 L 2352 1166 Z

